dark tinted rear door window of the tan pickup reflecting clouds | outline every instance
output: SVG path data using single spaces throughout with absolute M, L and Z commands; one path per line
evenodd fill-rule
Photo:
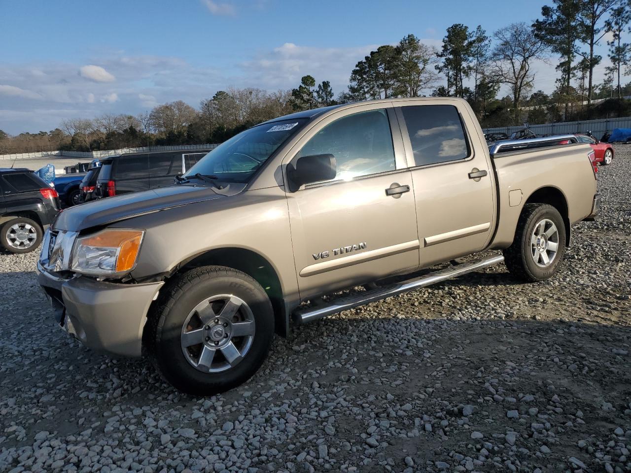
M 469 143 L 453 105 L 401 107 L 416 166 L 464 160 Z

